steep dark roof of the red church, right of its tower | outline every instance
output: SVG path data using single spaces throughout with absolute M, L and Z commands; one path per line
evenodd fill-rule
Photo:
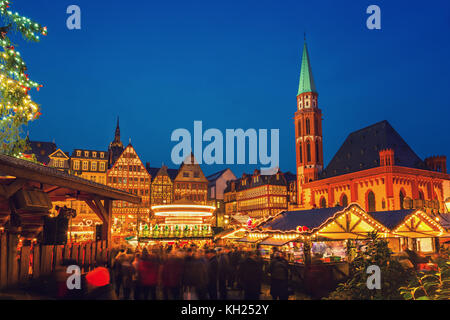
M 383 149 L 394 150 L 396 166 L 426 169 L 425 163 L 384 120 L 350 133 L 320 178 L 378 167 L 379 151 Z

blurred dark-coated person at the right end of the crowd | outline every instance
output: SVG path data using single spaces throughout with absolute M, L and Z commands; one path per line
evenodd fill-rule
M 288 300 L 289 264 L 282 252 L 276 252 L 270 262 L 270 294 L 273 300 Z

